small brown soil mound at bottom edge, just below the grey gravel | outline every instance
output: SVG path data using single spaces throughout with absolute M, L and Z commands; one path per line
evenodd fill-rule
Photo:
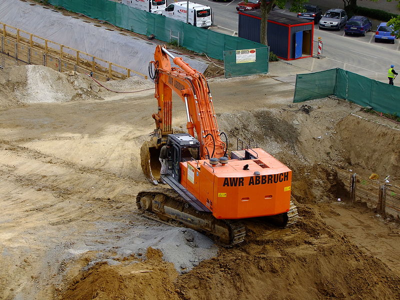
M 74 277 L 61 300 L 178 299 L 172 263 L 162 261 L 160 250 L 147 249 L 147 259 L 125 259 L 116 265 L 100 262 Z

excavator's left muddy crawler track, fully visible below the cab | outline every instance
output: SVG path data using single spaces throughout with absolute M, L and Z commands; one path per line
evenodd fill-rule
M 224 247 L 243 242 L 246 234 L 240 221 L 216 219 L 209 212 L 196 211 L 170 188 L 142 190 L 136 196 L 136 205 L 151 219 L 203 232 Z

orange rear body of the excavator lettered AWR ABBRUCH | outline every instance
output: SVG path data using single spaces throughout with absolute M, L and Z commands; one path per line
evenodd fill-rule
M 261 148 L 256 159 L 181 162 L 180 183 L 214 217 L 237 219 L 276 215 L 289 210 L 291 170 Z M 243 166 L 247 164 L 246 170 Z

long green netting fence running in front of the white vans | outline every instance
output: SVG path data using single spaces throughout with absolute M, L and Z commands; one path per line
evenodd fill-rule
M 265 47 L 244 38 L 198 28 L 162 15 L 135 9 L 109 0 L 49 0 L 54 6 L 108 21 L 139 34 L 154 34 L 157 39 L 176 40 L 180 46 L 210 57 L 223 59 L 223 51 Z

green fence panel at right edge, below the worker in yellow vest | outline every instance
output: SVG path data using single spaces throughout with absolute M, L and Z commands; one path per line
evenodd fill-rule
M 377 111 L 400 116 L 400 87 L 373 80 L 369 106 Z

